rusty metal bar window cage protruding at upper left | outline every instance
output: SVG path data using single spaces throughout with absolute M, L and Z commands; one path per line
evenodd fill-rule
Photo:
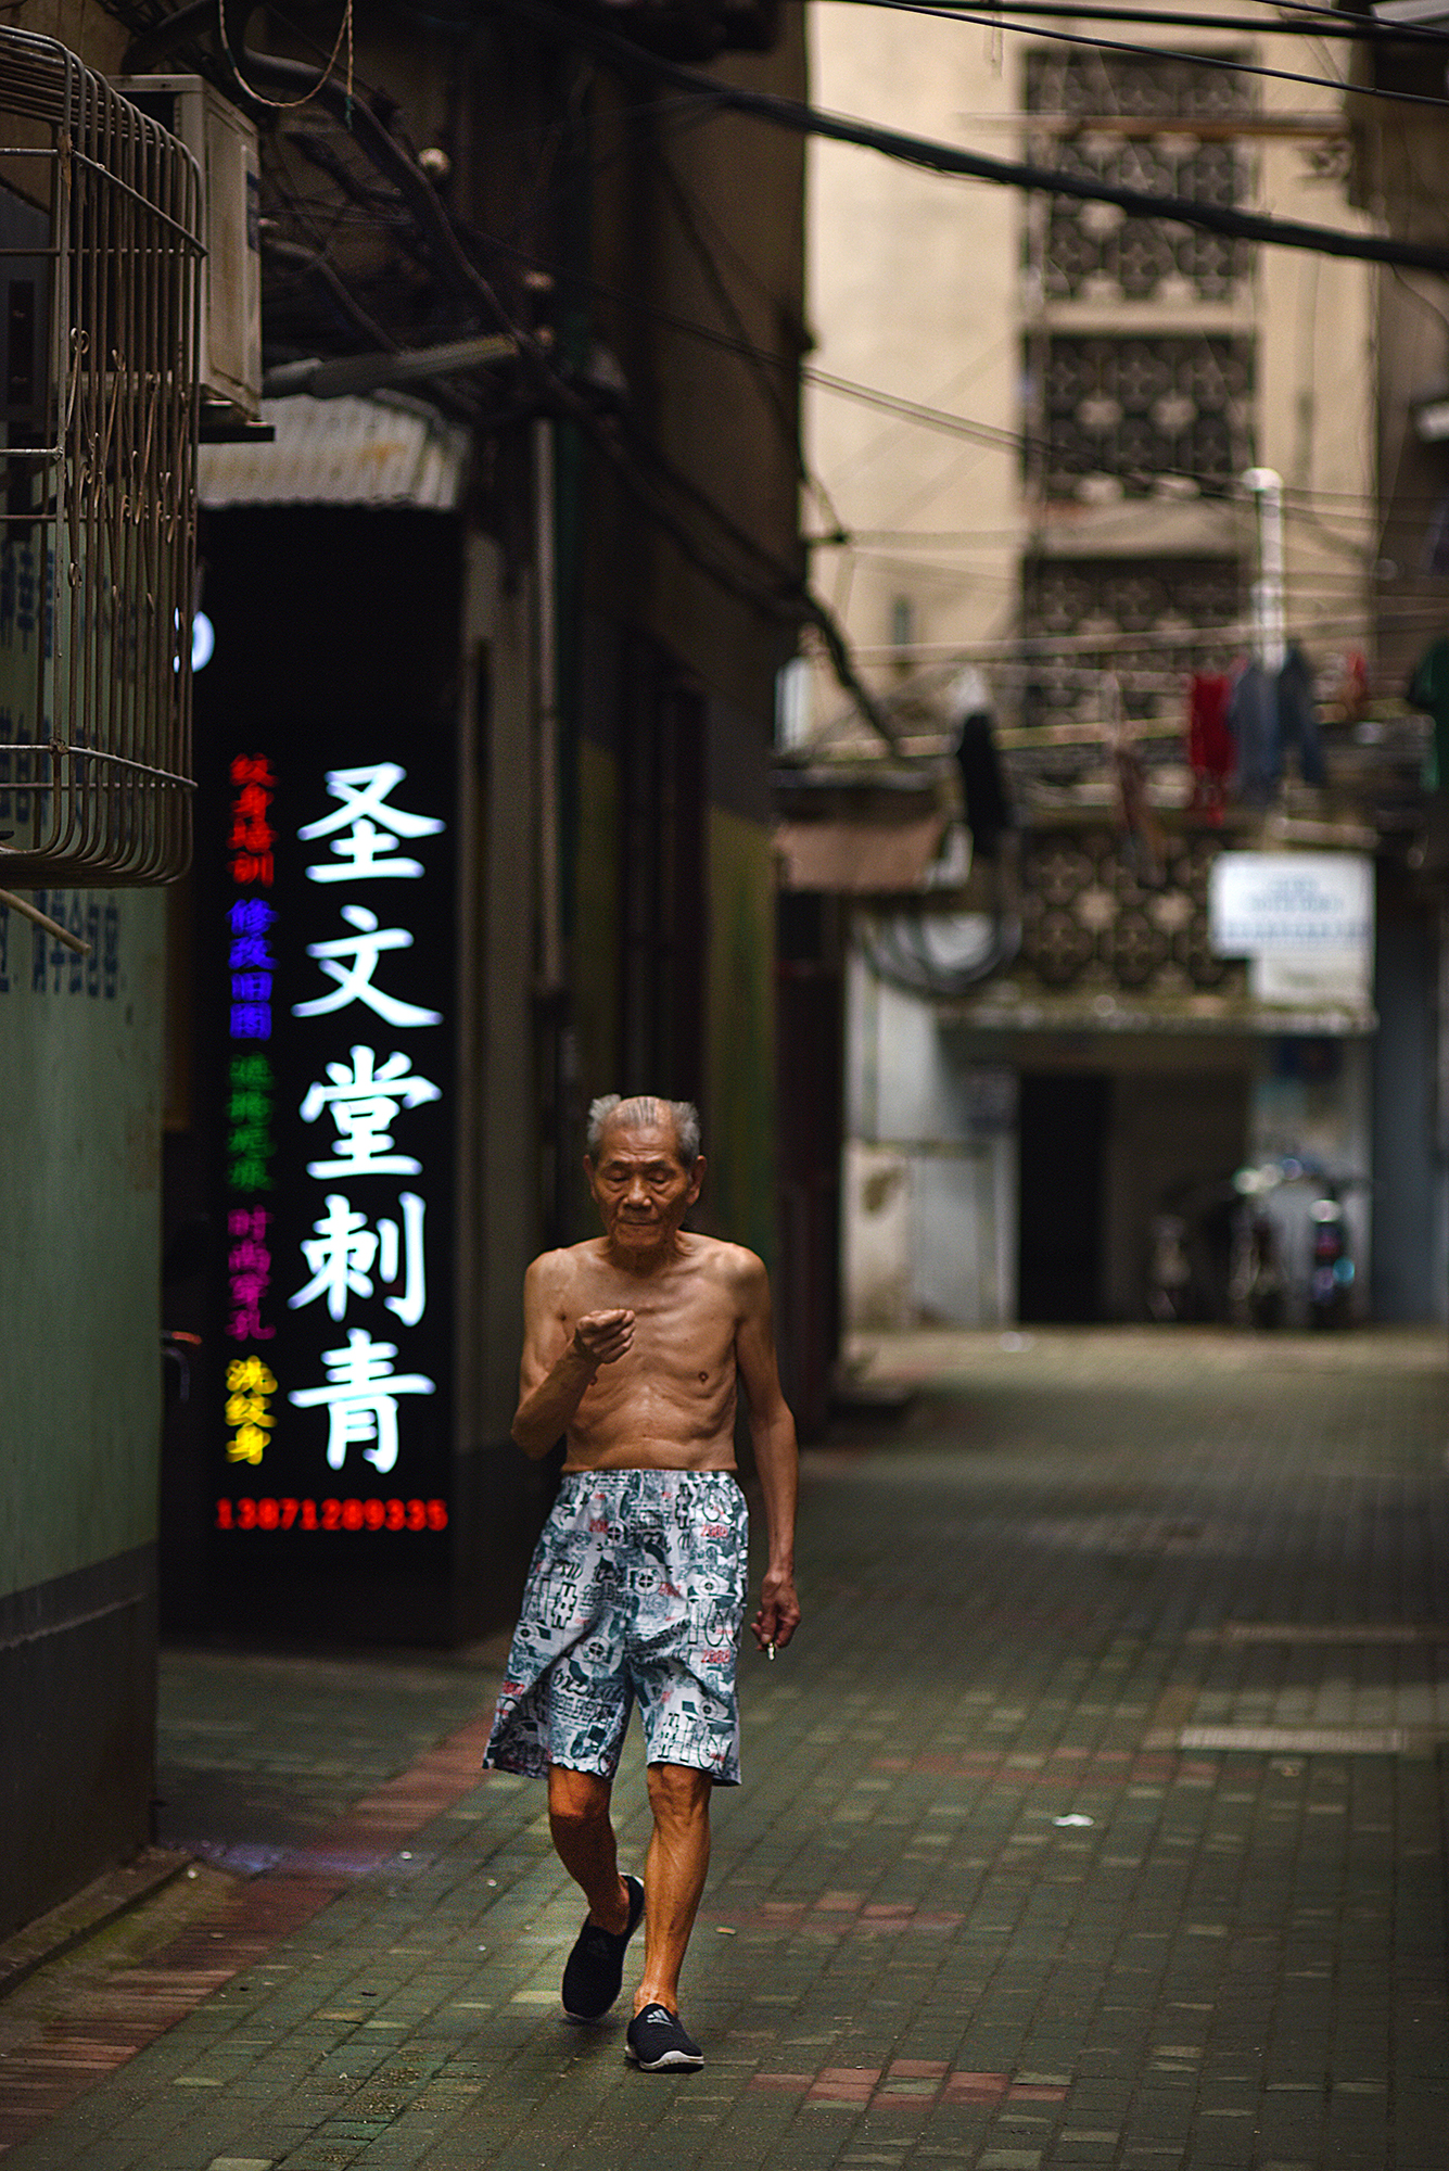
M 191 851 L 200 176 L 0 30 L 0 884 Z

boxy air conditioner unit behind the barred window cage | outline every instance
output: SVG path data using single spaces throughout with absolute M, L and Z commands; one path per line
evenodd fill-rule
M 228 436 L 262 410 L 256 124 L 202 76 L 119 76 L 115 89 L 202 169 L 202 436 Z

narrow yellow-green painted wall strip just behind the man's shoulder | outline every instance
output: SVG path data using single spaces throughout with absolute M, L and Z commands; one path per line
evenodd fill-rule
M 774 1261 L 774 853 L 709 808 L 709 1227 Z

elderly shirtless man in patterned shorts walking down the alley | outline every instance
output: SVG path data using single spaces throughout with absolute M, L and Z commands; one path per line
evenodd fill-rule
M 688 1101 L 594 1101 L 588 1170 L 603 1237 L 534 1259 L 514 1439 L 568 1442 L 534 1554 L 486 1765 L 549 1778 L 549 1824 L 588 1917 L 564 2013 L 599 2021 L 644 1919 L 627 2056 L 646 2073 L 703 2054 L 679 2019 L 679 1969 L 709 1867 L 709 1791 L 740 1782 L 735 1661 L 746 1511 L 735 1483 L 735 1383 L 748 1398 L 770 1531 L 755 1641 L 796 1630 L 796 1439 L 774 1366 L 770 1283 L 738 1244 L 683 1227 L 705 1164 Z M 653 1839 L 644 1882 L 620 1876 L 610 1821 L 638 1698 Z

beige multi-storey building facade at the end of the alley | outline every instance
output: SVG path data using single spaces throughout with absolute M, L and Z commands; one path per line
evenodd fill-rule
M 889 15 L 820 9 L 813 91 L 996 158 L 1367 230 L 1334 80 L 1347 52 L 1308 59 L 1260 11 L 1234 13 L 1241 33 L 1093 26 L 1074 43 L 1067 24 L 900 39 Z M 1412 1201 L 1442 1194 L 1442 1153 L 1423 1109 L 1408 1129 L 1375 1118 L 1429 1090 L 1423 1049 L 1416 1086 L 1401 1064 L 1436 1031 L 1434 914 L 1408 864 L 1425 725 L 1377 606 L 1393 276 L 839 143 L 811 148 L 809 267 L 807 445 L 829 506 L 813 564 L 896 749 L 816 671 L 785 734 L 785 803 L 794 821 L 813 779 L 822 803 L 892 786 L 898 814 L 939 814 L 915 881 L 844 884 L 861 892 L 848 1324 L 1143 1318 L 1163 1216 L 1189 1222 L 1200 1316 L 1226 1316 L 1230 1179 L 1284 1157 L 1317 1170 L 1262 1207 L 1286 1316 L 1308 1316 L 1328 1177 L 1351 1309 L 1440 1316 L 1436 1216 L 1421 1227 Z M 1189 686 L 1260 640 L 1252 469 L 1282 484 L 1284 630 L 1328 766 L 1299 753 L 1256 803 L 1223 805 L 1193 771 Z M 961 881 L 952 749 L 974 712 L 1015 814 Z M 1367 929 L 1351 983 L 1317 994 L 1219 955 L 1223 851 L 1375 862 L 1382 1023 Z M 1020 940 L 991 957 L 1004 923 Z

